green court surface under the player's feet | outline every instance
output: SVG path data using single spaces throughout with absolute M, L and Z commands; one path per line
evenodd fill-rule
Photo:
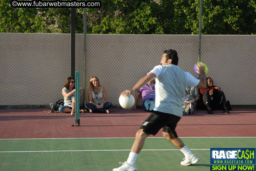
M 256 137 L 183 137 L 200 161 L 182 166 L 184 155 L 164 138 L 147 138 L 138 171 L 210 171 L 210 148 L 255 148 Z M 0 139 L 1 171 L 111 171 L 130 153 L 134 138 Z

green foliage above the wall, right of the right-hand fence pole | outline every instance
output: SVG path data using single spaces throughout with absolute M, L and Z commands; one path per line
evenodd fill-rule
M 207 0 L 203 5 L 202 31 L 204 34 L 255 34 L 255 19 L 253 0 Z M 193 27 L 193 34 L 197 33 L 198 29 Z

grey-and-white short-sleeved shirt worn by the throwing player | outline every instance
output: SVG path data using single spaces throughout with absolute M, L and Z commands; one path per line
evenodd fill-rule
M 154 110 L 182 117 L 184 91 L 196 87 L 200 80 L 173 64 L 155 66 L 150 72 L 156 75 Z

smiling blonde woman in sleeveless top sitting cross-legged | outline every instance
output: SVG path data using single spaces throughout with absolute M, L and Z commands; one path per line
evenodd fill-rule
M 96 76 L 92 76 L 90 79 L 88 99 L 89 103 L 86 103 L 85 106 L 91 113 L 109 113 L 108 109 L 112 107 L 112 103 L 108 102 L 105 87 L 100 85 Z

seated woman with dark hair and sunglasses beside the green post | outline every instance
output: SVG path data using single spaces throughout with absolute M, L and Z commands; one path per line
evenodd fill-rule
M 62 89 L 62 95 L 64 97 L 64 106 L 59 107 L 60 112 L 71 113 L 71 115 L 75 115 L 75 79 L 73 77 L 68 77 L 65 87 Z M 80 113 L 85 113 L 84 110 L 80 110 Z

